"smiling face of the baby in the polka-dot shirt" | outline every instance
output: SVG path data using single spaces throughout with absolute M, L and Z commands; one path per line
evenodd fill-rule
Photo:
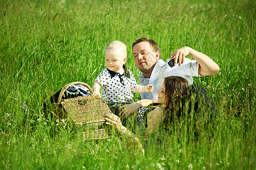
M 121 71 L 126 60 L 127 57 L 121 50 L 106 49 L 105 51 L 105 65 L 111 71 Z

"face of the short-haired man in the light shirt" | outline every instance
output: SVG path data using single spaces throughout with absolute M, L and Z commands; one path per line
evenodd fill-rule
M 147 73 L 158 61 L 159 53 L 153 52 L 148 42 L 140 42 L 133 47 L 133 57 L 138 69 L 142 73 Z

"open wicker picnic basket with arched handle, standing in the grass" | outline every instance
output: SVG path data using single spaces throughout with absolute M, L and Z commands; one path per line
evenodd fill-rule
M 86 83 L 73 82 L 65 85 L 56 103 L 57 116 L 59 118 L 70 117 L 75 127 L 83 126 L 82 138 L 84 141 L 88 139 L 109 138 L 111 127 L 106 125 L 105 114 L 111 111 L 104 100 L 93 98 L 92 96 L 61 99 L 65 90 L 75 84 L 84 85 L 92 94 L 92 88 Z

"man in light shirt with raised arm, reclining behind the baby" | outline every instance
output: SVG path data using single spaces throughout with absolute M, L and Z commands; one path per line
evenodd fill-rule
M 191 56 L 195 60 L 185 58 Z M 133 56 L 138 69 L 142 72 L 139 76 L 139 84 L 153 84 L 154 91 L 151 94 L 141 94 L 142 99 L 157 100 L 156 91 L 160 89 L 165 77 L 170 75 L 181 76 L 188 80 L 189 84 L 193 83 L 192 76 L 215 75 L 220 68 L 217 63 L 207 55 L 197 52 L 196 50 L 185 46 L 177 49 L 170 59 L 174 58 L 174 67 L 168 65 L 161 59 L 159 45 L 147 37 L 135 40 L 133 43 Z M 177 66 L 177 63 L 179 66 Z M 126 118 L 131 113 L 138 111 L 137 103 L 126 105 L 121 108 L 120 117 Z

